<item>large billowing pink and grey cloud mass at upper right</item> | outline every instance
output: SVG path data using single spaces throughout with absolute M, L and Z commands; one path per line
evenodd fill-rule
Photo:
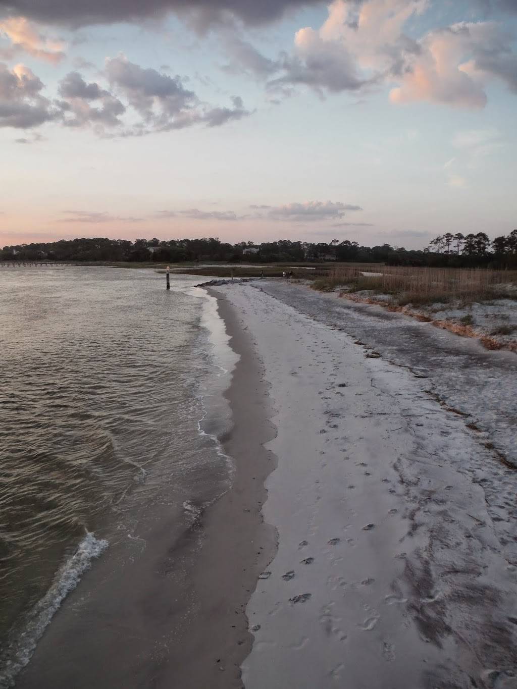
M 407 24 L 430 7 L 427 0 L 334 0 L 321 28 L 296 32 L 292 54 L 272 60 L 236 41 L 227 69 L 240 59 L 243 71 L 268 78 L 267 88 L 283 97 L 299 85 L 321 96 L 390 85 L 392 103 L 482 108 L 493 79 L 517 93 L 514 37 L 502 25 L 460 22 L 410 37 Z

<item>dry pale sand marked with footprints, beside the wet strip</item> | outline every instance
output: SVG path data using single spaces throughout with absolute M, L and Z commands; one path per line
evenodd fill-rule
M 410 371 L 257 285 L 217 291 L 278 429 L 263 508 L 278 551 L 247 606 L 246 689 L 515 688 L 515 543 L 485 491 L 509 509 L 516 472 Z

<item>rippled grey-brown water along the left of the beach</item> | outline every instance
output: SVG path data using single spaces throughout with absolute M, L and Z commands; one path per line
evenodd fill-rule
M 235 356 L 197 282 L 0 269 L 0 686 L 144 507 L 188 522 L 231 483 Z

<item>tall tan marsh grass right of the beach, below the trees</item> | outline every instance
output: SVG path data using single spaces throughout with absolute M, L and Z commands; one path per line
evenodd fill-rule
M 512 296 L 509 285 L 517 286 L 517 271 L 382 266 L 375 270 L 376 274 L 363 275 L 364 272 L 364 268 L 355 266 L 332 268 L 325 286 L 319 289 L 333 289 L 339 285 L 348 286 L 350 291 L 372 289 L 396 296 L 402 305 L 494 299 Z M 317 289 L 318 285 L 315 287 Z M 517 291 L 513 291 L 513 296 L 517 297 Z

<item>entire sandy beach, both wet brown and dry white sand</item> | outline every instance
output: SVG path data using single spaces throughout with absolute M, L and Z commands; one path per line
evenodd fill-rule
M 155 512 L 139 557 L 110 548 L 16 686 L 515 688 L 516 472 L 487 442 L 503 398 L 474 430 L 372 313 L 274 280 L 210 294 L 240 356 L 232 489 L 183 531 Z M 436 329 L 420 348 L 396 316 L 423 366 L 463 351 L 458 389 L 515 380 L 514 355 Z

